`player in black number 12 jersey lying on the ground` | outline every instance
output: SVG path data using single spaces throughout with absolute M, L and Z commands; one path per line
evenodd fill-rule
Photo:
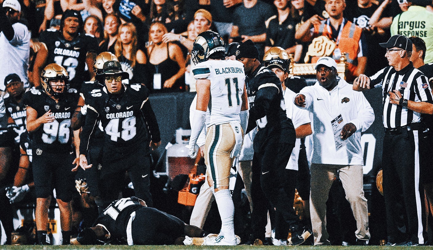
M 148 208 L 135 196 L 112 202 L 94 225 L 78 234 L 79 244 L 182 245 L 185 235 L 206 237 L 209 234 L 173 215 Z

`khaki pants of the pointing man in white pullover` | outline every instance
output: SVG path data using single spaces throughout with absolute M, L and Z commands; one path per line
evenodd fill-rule
M 338 173 L 337 173 L 338 170 Z M 346 192 L 356 220 L 355 236 L 369 240 L 367 199 L 364 197 L 362 165 L 331 165 L 312 163 L 310 189 L 310 216 L 313 226 L 314 245 L 329 245 L 326 231 L 326 201 L 337 174 Z

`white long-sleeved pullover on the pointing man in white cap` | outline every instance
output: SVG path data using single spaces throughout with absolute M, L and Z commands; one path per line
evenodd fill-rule
M 312 163 L 337 165 L 364 165 L 361 147 L 361 132 L 367 130 L 375 120 L 370 103 L 361 92 L 352 90 L 352 85 L 337 78 L 338 85 L 331 91 L 316 82 L 305 87 L 300 94 L 305 96 L 305 107 L 310 111 L 313 130 Z M 356 132 L 343 141 L 343 147 L 336 150 L 334 131 L 331 125 L 342 116 L 339 131 L 347 123 L 356 126 Z M 341 139 L 339 139 L 341 140 Z

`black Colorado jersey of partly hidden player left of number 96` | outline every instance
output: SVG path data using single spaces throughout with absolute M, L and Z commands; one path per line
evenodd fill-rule
M 26 131 L 26 105 L 21 103 L 16 103 L 15 100 L 8 96 L 4 99 L 4 106 L 6 107 L 6 115 L 12 117 L 17 125 L 14 130 L 18 133 L 15 138 L 16 143 L 19 143 L 20 135 Z

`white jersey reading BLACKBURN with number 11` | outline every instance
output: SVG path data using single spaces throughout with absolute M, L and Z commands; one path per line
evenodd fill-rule
M 233 60 L 204 61 L 192 69 L 195 79 L 210 80 L 210 125 L 240 122 L 245 86 L 243 64 Z

